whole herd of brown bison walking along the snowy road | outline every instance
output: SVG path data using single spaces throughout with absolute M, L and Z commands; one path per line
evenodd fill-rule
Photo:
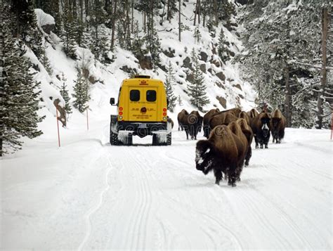
M 240 181 L 243 166 L 249 165 L 252 156 L 252 140 L 256 148 L 268 148 L 270 134 L 273 143 L 281 143 L 285 136 L 286 119 L 276 109 L 272 114 L 255 109 L 244 112 L 239 108 L 220 111 L 211 109 L 204 117 L 198 111 L 188 113 L 185 109 L 178 113 L 178 130 L 184 130 L 186 139 L 197 139 L 203 127 L 207 140 L 197 141 L 196 168 L 204 174 L 214 171 L 216 184 L 223 178 L 228 185 L 236 186 Z

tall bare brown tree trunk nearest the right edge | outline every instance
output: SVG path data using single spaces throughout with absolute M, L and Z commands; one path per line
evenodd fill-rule
M 328 32 L 328 11 L 327 7 L 322 10 L 322 70 L 321 70 L 321 85 L 318 92 L 318 102 L 317 102 L 317 125 L 318 129 L 322 129 L 322 117 L 325 95 L 325 86 L 327 82 L 327 32 Z

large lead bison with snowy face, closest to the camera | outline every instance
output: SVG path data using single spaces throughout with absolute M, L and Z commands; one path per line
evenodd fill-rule
M 244 158 L 242 142 L 229 127 L 219 125 L 215 127 L 209 139 L 197 142 L 195 164 L 197 170 L 208 174 L 214 170 L 215 184 L 222 179 L 222 172 L 228 175 L 228 185 L 236 186 L 237 165 Z

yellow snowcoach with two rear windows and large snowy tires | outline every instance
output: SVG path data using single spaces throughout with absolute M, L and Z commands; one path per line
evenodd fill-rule
M 124 79 L 119 89 L 117 115 L 111 115 L 111 145 L 131 145 L 133 135 L 152 135 L 152 145 L 171 145 L 171 124 L 167 122 L 164 84 L 150 76 L 136 75 Z

